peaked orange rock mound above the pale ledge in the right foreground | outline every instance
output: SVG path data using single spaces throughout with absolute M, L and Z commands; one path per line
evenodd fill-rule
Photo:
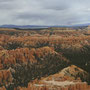
M 82 81 L 88 81 L 89 80 L 89 74 L 84 71 L 83 69 L 71 65 L 69 67 L 64 68 L 59 73 L 51 75 L 47 78 L 44 78 L 44 80 L 56 80 L 56 81 L 65 81 L 65 80 L 82 80 Z

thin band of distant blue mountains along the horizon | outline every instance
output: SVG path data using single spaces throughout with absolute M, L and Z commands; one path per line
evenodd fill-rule
M 50 28 L 50 27 L 68 27 L 68 28 L 83 28 L 88 27 L 90 24 L 78 24 L 78 25 L 0 25 L 0 28 L 22 28 L 22 29 L 28 29 L 28 28 Z

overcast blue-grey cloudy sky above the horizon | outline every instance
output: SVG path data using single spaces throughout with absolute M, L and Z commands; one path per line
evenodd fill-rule
M 0 0 L 0 25 L 90 23 L 90 0 Z

